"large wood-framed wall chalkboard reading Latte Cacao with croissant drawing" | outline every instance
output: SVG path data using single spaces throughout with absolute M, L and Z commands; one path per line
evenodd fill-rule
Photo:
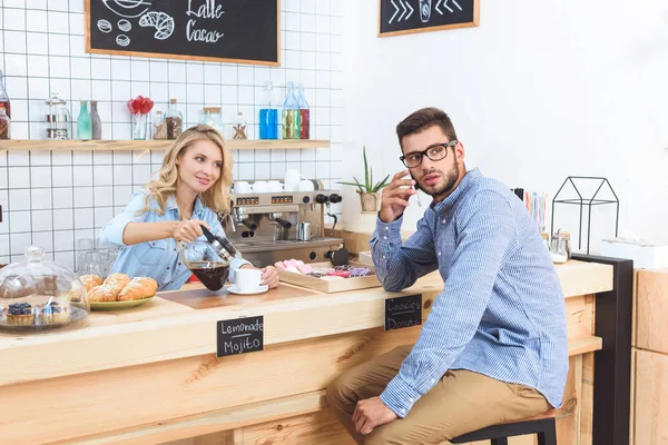
M 86 50 L 281 65 L 281 0 L 86 0 Z

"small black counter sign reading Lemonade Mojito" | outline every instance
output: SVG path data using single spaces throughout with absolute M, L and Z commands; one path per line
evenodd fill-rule
M 220 320 L 216 325 L 216 357 L 263 350 L 264 317 Z

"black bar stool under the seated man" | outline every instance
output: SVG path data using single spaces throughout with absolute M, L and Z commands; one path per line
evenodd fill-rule
M 536 417 L 490 425 L 453 437 L 450 442 L 452 444 L 465 444 L 466 442 L 491 441 L 492 445 L 508 445 L 508 437 L 536 434 L 538 435 L 538 445 L 557 445 L 557 426 L 554 424 L 557 413 L 557 409 L 550 409 Z

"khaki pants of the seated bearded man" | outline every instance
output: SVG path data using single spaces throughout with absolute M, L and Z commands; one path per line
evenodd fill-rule
M 352 418 L 357 400 L 381 395 L 412 346 L 401 346 L 341 375 L 327 388 L 327 402 L 358 444 L 440 444 L 489 425 L 544 413 L 550 408 L 536 389 L 495 380 L 470 370 L 449 370 L 422 396 L 405 418 L 379 426 L 366 436 Z

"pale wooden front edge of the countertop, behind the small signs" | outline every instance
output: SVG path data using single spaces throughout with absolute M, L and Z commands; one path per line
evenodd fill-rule
M 611 266 L 573 261 L 561 270 L 566 295 L 568 289 L 570 295 L 588 295 L 612 287 Z M 184 308 L 184 314 L 58 335 L 0 337 L 0 362 L 6 364 L 0 367 L 0 386 L 212 354 L 216 322 L 224 319 L 263 315 L 265 345 L 381 327 L 385 298 L 422 293 L 424 299 L 433 299 L 441 290 L 431 275 L 401 293 L 373 288 L 206 310 Z

